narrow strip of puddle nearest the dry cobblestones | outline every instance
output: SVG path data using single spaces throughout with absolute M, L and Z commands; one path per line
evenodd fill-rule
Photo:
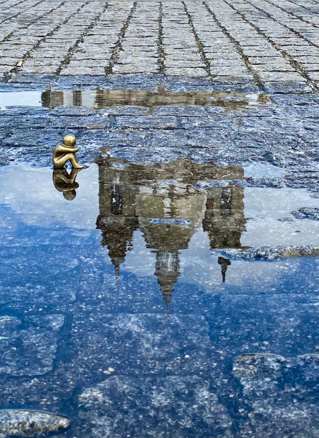
M 0 109 L 8 106 L 83 106 L 102 109 L 121 105 L 152 108 L 162 105 L 221 106 L 229 109 L 247 109 L 251 106 L 271 104 L 265 94 L 241 92 L 168 92 L 159 87 L 158 92 L 147 90 L 77 90 L 45 92 L 0 92 Z

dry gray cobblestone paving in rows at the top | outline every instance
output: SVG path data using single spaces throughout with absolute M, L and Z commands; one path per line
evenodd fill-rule
M 305 92 L 318 88 L 318 12 L 314 0 L 6 0 L 0 78 L 148 73 Z

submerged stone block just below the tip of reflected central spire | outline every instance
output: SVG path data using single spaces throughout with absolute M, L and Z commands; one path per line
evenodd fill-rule
M 170 336 L 173 328 L 178 328 L 180 336 Z M 113 364 L 122 375 L 142 370 L 147 374 L 188 375 L 213 368 L 210 364 L 215 353 L 209 327 L 198 314 L 172 315 L 169 319 L 165 314 L 96 314 L 90 329 L 81 325 L 81 332 L 73 337 L 77 358 L 73 366 L 83 363 L 83 355 L 92 356 L 86 365 L 91 373 L 105 364 Z M 123 337 L 127 339 L 125 348 L 121 346 Z

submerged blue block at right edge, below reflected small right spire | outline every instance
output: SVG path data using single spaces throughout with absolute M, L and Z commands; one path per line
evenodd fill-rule
M 256 293 L 253 300 L 248 295 L 222 294 L 220 300 L 221 314 L 207 320 L 216 339 L 215 347 L 227 356 L 261 351 L 291 357 L 296 351 L 298 354 L 311 351 L 318 341 L 311 329 L 319 323 L 315 306 L 311 304 L 316 301 L 314 293 L 306 297 L 298 293 L 289 296 Z M 223 312 L 233 315 L 234 319 L 225 318 Z M 227 337 L 234 331 L 234 324 L 239 336 L 229 349 Z M 308 330 L 303 331 L 305 326 Z M 272 330 L 272 327 L 277 329 Z

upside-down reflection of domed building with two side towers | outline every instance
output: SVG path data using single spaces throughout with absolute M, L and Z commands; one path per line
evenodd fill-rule
M 155 275 L 168 309 L 179 277 L 179 252 L 188 247 L 203 223 L 211 247 L 238 247 L 244 230 L 243 189 L 214 187 L 202 191 L 198 180 L 240 179 L 237 166 L 197 164 L 188 159 L 136 165 L 125 160 L 97 158 L 99 209 L 97 227 L 115 266 L 132 247 L 134 230 L 140 229 L 146 245 L 156 253 Z M 226 259 L 225 259 L 226 260 Z M 223 278 L 226 269 L 222 267 Z

